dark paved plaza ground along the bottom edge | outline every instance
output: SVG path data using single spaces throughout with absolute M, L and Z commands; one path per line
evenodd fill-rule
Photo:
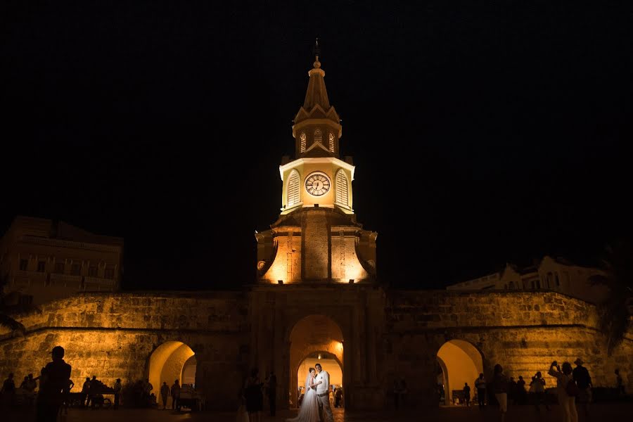
M 283 422 L 286 418 L 295 416 L 296 411 L 279 411 L 276 418 L 264 414 L 262 422 Z M 33 415 L 26 411 L 4 411 L 0 420 L 3 422 L 30 422 L 34 421 Z M 60 422 L 180 422 L 180 421 L 209 421 L 209 422 L 235 422 L 234 412 L 174 412 L 159 411 L 154 409 L 119 409 L 114 410 L 89 410 L 70 409 L 68 416 L 60 418 Z M 633 403 L 605 403 L 593 404 L 592 414 L 589 418 L 580 416 L 579 422 L 618 422 L 633 420 Z M 423 409 L 419 411 L 382 411 L 382 412 L 346 412 L 343 409 L 334 409 L 335 422 L 414 422 L 414 421 L 442 421 L 442 422 L 480 422 L 499 421 L 497 409 L 490 407 L 485 411 L 479 411 L 476 407 L 467 409 L 463 407 L 441 407 L 435 409 Z M 514 406 L 509 409 L 506 422 L 563 422 L 561 409 L 557 405 L 552 406 L 551 411 L 537 412 L 531 406 Z

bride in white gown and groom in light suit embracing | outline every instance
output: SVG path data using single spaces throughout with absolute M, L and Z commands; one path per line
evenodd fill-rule
M 310 368 L 305 378 L 305 396 L 296 418 L 286 422 L 333 422 L 330 408 L 330 374 L 321 364 Z

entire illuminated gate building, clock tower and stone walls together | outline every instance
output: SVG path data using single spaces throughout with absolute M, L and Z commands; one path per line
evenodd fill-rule
M 340 120 L 319 60 L 295 117 L 295 159 L 279 167 L 281 213 L 255 234 L 257 279 L 241 291 L 81 293 L 20 315 L 24 337 L 0 331 L 0 373 L 37 373 L 63 345 L 72 378 L 112 385 L 191 381 L 209 409 L 234 410 L 251 368 L 278 381 L 277 407 L 295 407 L 316 362 L 343 385 L 346 409 L 437 405 L 495 364 L 529 380 L 582 357 L 594 386 L 620 369 L 633 388 L 633 333 L 609 357 L 596 306 L 562 291 L 394 290 L 376 279 L 376 233 L 355 220 L 352 160 L 338 157 Z M 510 276 L 510 274 L 508 275 Z M 424 274 L 420 274 L 424 282 Z M 547 378 L 547 377 L 546 377 Z M 217 382 L 222 380 L 222 382 Z M 549 385 L 555 385 L 549 379 Z

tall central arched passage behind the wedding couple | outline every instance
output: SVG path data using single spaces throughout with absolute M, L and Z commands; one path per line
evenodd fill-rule
M 330 384 L 334 383 L 333 371 L 335 367 L 326 366 L 324 358 L 336 362 L 340 368 L 343 384 L 343 333 L 338 324 L 325 315 L 310 315 L 298 321 L 290 332 L 290 407 L 297 407 L 298 386 L 305 381 L 306 372 L 298 376 L 300 366 L 307 360 L 309 364 L 316 364 L 321 354 L 321 366 L 330 373 Z M 316 360 L 314 360 L 316 357 Z M 309 365 L 310 366 L 310 365 Z M 332 365 L 334 366 L 334 365 Z M 345 389 L 344 389 L 345 390 Z

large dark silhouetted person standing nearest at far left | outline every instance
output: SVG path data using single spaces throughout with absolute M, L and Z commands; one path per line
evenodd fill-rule
M 70 385 L 70 365 L 64 362 L 64 348 L 53 347 L 53 362 L 42 369 L 37 397 L 37 422 L 55 422 L 63 402 L 63 392 Z

